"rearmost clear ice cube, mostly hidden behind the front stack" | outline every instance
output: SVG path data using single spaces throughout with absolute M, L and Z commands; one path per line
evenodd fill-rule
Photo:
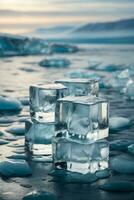
M 99 83 L 97 80 L 73 78 L 57 80 L 56 83 L 65 85 L 71 96 L 98 96 Z

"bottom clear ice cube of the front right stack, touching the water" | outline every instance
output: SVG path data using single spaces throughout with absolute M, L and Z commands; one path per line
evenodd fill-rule
M 64 137 L 53 138 L 56 168 L 79 173 L 95 173 L 108 168 L 109 145 L 106 140 L 85 142 Z

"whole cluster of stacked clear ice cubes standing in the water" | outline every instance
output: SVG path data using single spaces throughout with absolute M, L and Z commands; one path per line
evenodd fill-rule
M 80 173 L 108 167 L 108 102 L 98 97 L 98 81 L 64 79 L 29 91 L 25 143 L 33 156 L 53 155 L 56 168 Z

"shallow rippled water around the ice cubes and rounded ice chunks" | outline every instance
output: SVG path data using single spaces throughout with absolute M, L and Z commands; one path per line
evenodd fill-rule
M 53 56 L 27 56 L 27 57 L 10 57 L 0 60 L 0 94 L 8 97 L 19 99 L 28 98 L 28 88 L 31 84 L 43 83 L 58 78 L 63 78 L 66 72 L 76 71 L 79 69 L 88 68 L 90 63 L 98 62 L 104 64 L 122 64 L 134 66 L 134 46 L 133 45 L 80 45 L 81 51 L 75 54 L 53 55 Z M 68 69 L 48 69 L 38 65 L 44 58 L 62 57 L 68 58 L 71 61 L 71 66 Z M 97 72 L 101 76 L 110 77 L 110 73 Z M 114 72 L 115 73 L 115 72 Z M 129 140 L 134 143 L 134 101 L 128 101 L 124 95 L 113 89 L 100 89 L 101 95 L 106 96 L 110 100 L 110 116 L 128 117 L 132 125 L 120 131 L 110 134 L 109 141 L 114 140 Z M 13 125 L 21 117 L 29 115 L 28 106 L 24 106 L 21 113 L 14 114 L 12 119 L 15 122 L 0 123 L 0 131 L 7 129 L 7 125 Z M 9 113 L 7 114 L 9 115 Z M 1 114 L 3 117 L 3 114 Z M 5 115 L 4 115 L 5 117 Z M 24 122 L 20 122 L 24 123 Z M 11 137 L 9 134 L 7 137 Z M 3 136 L 0 136 L 1 139 Z M 17 141 L 11 141 L 6 145 L 0 145 L 0 159 L 5 160 L 6 157 L 22 151 L 21 144 L 24 143 L 23 136 L 15 136 Z M 19 147 L 20 145 L 20 147 Z M 20 150 L 19 150 L 20 149 Z M 133 155 L 124 151 L 112 150 L 111 158 L 117 155 L 123 158 L 134 160 Z M 77 184 L 77 183 L 61 183 L 54 181 L 48 173 L 50 172 L 51 163 L 36 163 L 30 162 L 33 170 L 33 175 L 27 178 L 11 178 L 0 179 L 0 198 L 5 200 L 19 200 L 30 191 L 43 189 L 45 191 L 56 194 L 60 200 L 85 200 L 95 199 L 100 200 L 133 200 L 134 192 L 131 193 L 108 193 L 99 189 L 99 185 L 107 180 L 128 180 L 134 181 L 134 174 L 118 174 L 111 173 L 111 176 L 106 179 L 100 179 L 92 184 Z M 26 187 L 27 185 L 27 187 Z

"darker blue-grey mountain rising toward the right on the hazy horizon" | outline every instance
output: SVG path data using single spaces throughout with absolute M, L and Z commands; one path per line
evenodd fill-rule
M 77 29 L 74 33 L 103 32 L 103 31 L 130 31 L 134 30 L 134 18 L 114 22 L 88 23 Z

